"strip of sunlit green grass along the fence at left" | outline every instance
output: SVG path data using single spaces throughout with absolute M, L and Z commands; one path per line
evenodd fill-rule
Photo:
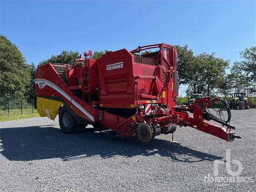
M 34 113 L 32 113 L 32 109 L 23 109 L 23 114 L 21 115 L 20 109 L 10 109 L 9 115 L 7 110 L 0 110 L 0 122 L 4 121 L 11 121 L 15 119 L 24 119 L 24 118 L 31 118 L 31 117 L 39 117 L 39 114 L 37 113 L 37 110 L 34 110 Z

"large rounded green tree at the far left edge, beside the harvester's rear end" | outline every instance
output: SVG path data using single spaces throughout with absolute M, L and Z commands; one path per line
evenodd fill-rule
M 29 66 L 18 47 L 0 35 L 0 97 L 23 98 L 30 83 Z

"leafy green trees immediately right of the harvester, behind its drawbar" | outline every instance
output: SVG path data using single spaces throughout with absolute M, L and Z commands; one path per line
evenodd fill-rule
M 178 49 L 179 84 L 188 86 L 187 94 L 202 93 L 210 96 L 225 83 L 225 69 L 229 61 L 216 58 L 214 53 L 194 55 L 188 46 Z

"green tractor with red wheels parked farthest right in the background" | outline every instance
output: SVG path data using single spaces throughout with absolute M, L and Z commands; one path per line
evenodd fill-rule
M 249 109 L 250 108 L 250 101 L 246 98 L 245 93 L 233 93 L 232 99 L 229 103 L 230 109 Z

